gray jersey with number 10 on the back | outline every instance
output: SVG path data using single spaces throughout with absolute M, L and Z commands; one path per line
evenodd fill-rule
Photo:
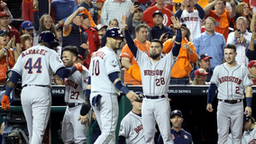
M 108 74 L 120 73 L 121 63 L 113 49 L 106 46 L 98 49 L 91 58 L 89 76 L 91 76 L 91 92 L 120 94 L 110 81 Z

